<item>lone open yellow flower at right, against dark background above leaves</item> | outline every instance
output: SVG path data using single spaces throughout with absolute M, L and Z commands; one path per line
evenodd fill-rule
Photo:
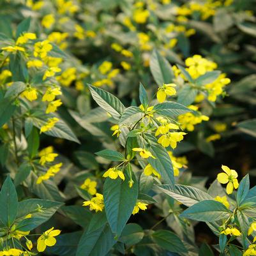
M 227 184 L 226 191 L 228 194 L 231 194 L 233 192 L 233 189 L 237 189 L 239 184 L 237 181 L 237 172 L 236 170 L 230 170 L 229 167 L 222 165 L 222 170 L 224 172 L 221 172 L 217 176 L 217 180 L 219 183 Z

